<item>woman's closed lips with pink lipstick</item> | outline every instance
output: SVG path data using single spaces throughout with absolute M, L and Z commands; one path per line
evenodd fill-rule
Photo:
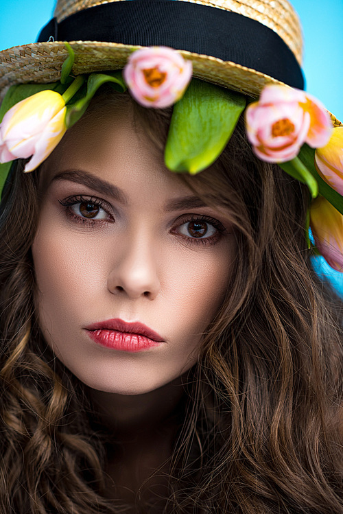
M 88 336 L 97 344 L 121 351 L 143 351 L 164 341 L 143 323 L 128 323 L 119 318 L 93 323 L 85 329 Z

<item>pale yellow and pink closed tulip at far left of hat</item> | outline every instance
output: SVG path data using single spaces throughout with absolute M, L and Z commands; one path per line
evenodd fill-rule
M 15 104 L 0 124 L 0 163 L 32 159 L 25 172 L 32 172 L 54 150 L 67 130 L 62 96 L 47 89 Z

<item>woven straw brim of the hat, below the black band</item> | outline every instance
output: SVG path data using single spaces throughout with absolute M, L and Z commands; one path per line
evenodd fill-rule
M 72 69 L 74 75 L 122 69 L 132 51 L 141 48 L 100 41 L 70 41 L 69 45 L 75 51 Z M 235 62 L 189 51 L 178 52 L 192 61 L 194 77 L 239 91 L 252 98 L 259 97 L 267 84 L 286 85 L 269 75 Z M 61 41 L 31 43 L 1 51 L 0 102 L 12 85 L 27 82 L 48 84 L 60 80 L 62 64 L 67 57 L 68 51 Z M 342 125 L 335 116 L 331 113 L 330 115 L 333 126 Z

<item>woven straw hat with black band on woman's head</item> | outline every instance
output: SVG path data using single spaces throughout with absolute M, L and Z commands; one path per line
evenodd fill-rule
M 74 75 L 121 69 L 132 49 L 165 45 L 193 61 L 195 77 L 252 97 L 270 83 L 303 89 L 300 24 L 287 0 L 58 0 L 38 40 L 0 52 L 0 98 L 12 84 L 59 80 L 64 40 Z

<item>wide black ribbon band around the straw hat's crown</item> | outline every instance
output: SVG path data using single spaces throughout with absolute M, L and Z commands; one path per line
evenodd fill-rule
M 96 21 L 96 23 L 95 23 Z M 255 69 L 304 89 L 303 72 L 291 49 L 269 27 L 242 14 L 171 0 L 104 3 L 43 27 L 38 43 L 102 41 L 134 46 L 166 46 Z

